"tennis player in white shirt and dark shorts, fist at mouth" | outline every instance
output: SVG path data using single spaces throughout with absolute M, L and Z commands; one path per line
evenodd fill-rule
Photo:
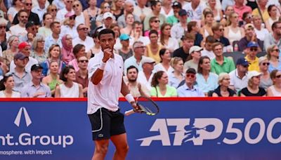
M 113 159 L 125 159 L 129 146 L 126 140 L 124 114 L 119 112 L 119 93 L 134 109 L 138 109 L 133 96 L 122 79 L 124 62 L 120 55 L 113 53 L 115 32 L 103 29 L 98 34 L 101 53 L 91 58 L 88 65 L 88 111 L 91 121 L 95 152 L 93 159 L 105 159 L 109 140 L 116 151 Z

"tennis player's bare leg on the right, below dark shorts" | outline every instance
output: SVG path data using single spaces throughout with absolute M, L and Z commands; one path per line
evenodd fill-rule
M 113 135 L 111 136 L 110 140 L 116 147 L 115 154 L 113 156 L 114 160 L 123 160 L 126 158 L 126 154 L 129 150 L 129 145 L 127 142 L 126 133 L 122 133 L 121 135 Z

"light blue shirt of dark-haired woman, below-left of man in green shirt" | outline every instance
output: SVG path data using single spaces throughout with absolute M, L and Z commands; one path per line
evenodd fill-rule
M 200 88 L 200 90 L 204 93 L 214 91 L 216 88 L 218 88 L 218 75 L 211 72 L 209 73 L 207 81 L 204 79 L 204 76 L 202 74 L 197 73 L 196 81 L 198 88 Z

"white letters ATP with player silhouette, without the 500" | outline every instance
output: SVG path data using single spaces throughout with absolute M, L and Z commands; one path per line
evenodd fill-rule
M 176 131 L 169 133 L 168 127 L 176 126 Z M 174 146 L 193 142 L 193 145 L 203 145 L 204 140 L 214 140 L 223 131 L 220 119 L 157 119 L 150 131 L 158 131 L 159 135 L 138 139 L 141 146 L 150 146 L 152 141 L 161 141 L 163 146 L 171 146 L 170 135 L 174 135 Z

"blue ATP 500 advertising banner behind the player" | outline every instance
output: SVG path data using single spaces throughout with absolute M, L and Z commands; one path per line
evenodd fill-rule
M 164 100 L 125 118 L 127 159 L 280 159 L 280 100 Z M 122 112 L 130 109 L 120 102 Z M 91 159 L 86 102 L 1 102 L 0 159 Z M 112 159 L 111 144 L 106 159 Z

